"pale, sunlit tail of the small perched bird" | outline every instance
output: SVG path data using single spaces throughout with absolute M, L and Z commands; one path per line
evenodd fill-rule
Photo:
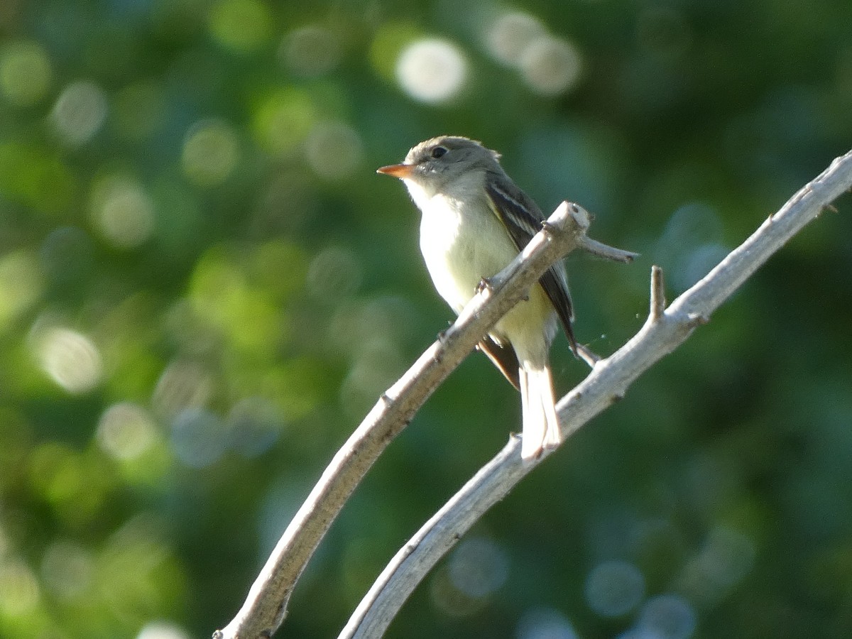
M 538 458 L 545 448 L 556 448 L 562 440 L 559 418 L 556 417 L 556 400 L 553 396 L 553 379 L 550 367 L 532 366 L 523 362 L 520 370 L 521 406 L 524 432 L 521 440 L 521 458 Z

